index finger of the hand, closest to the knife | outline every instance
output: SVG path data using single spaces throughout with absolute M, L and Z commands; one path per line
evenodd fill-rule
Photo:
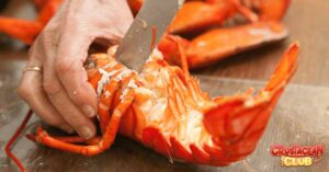
M 83 62 L 92 39 L 88 36 L 64 34 L 55 61 L 56 74 L 65 88 L 69 99 L 80 107 L 88 117 L 97 114 L 98 98 L 94 89 L 88 82 Z M 73 44 L 72 44 L 73 43 Z

